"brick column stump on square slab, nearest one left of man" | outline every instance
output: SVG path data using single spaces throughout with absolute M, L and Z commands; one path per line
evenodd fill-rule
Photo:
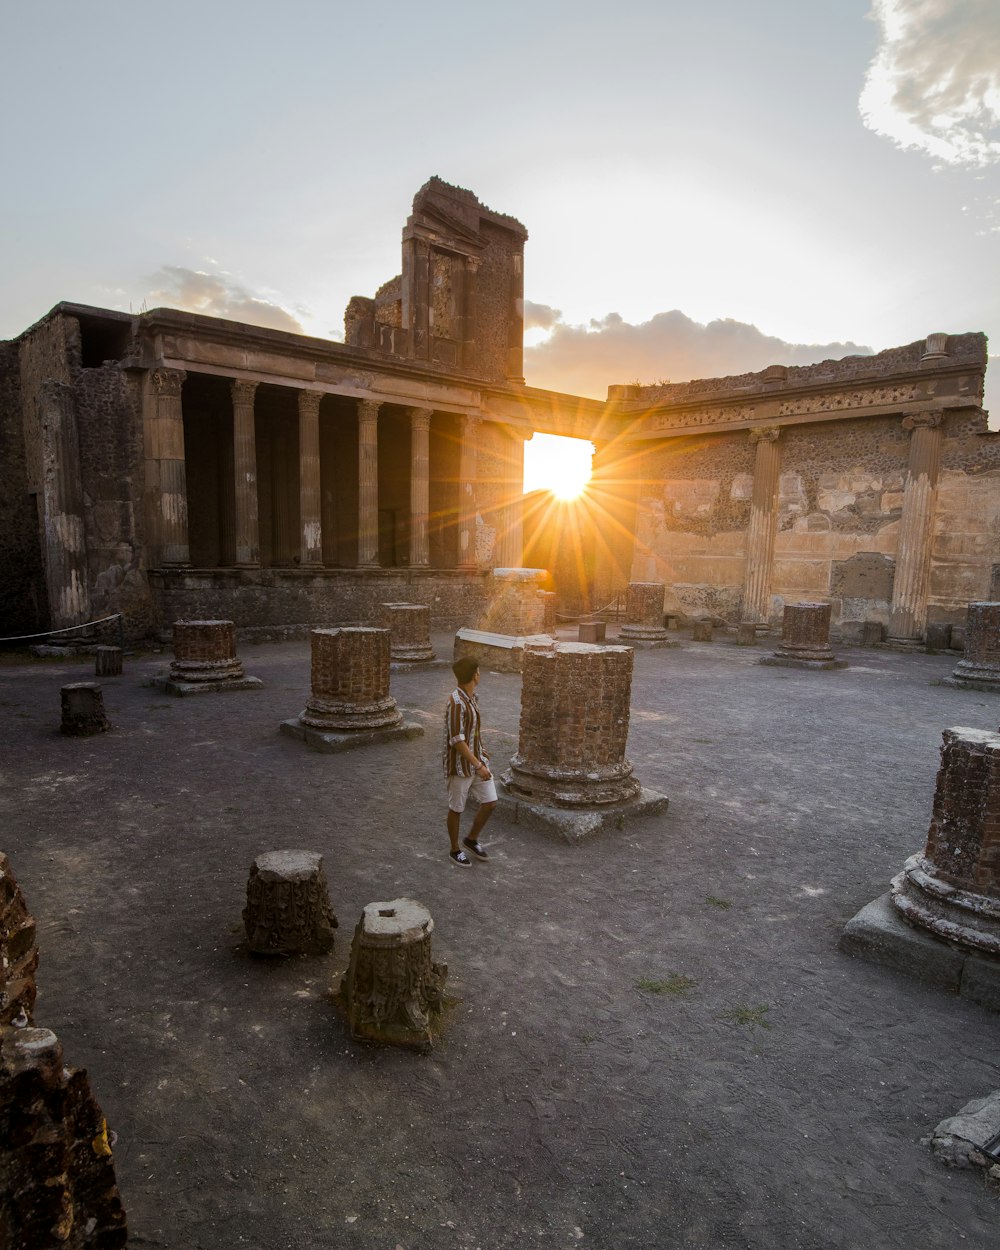
M 312 694 L 294 720 L 281 721 L 280 732 L 316 751 L 420 738 L 422 728 L 404 721 L 389 694 L 388 629 L 316 629 L 311 640 Z

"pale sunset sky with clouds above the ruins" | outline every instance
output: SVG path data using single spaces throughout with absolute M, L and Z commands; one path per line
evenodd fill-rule
M 982 330 L 998 0 L 2 0 L 0 338 L 60 300 L 320 338 L 431 175 L 529 231 L 530 385 Z

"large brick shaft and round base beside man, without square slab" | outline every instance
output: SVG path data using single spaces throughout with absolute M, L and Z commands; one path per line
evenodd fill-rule
M 518 754 L 504 775 L 511 794 L 566 808 L 635 798 L 625 758 L 631 680 L 626 646 L 526 648 Z

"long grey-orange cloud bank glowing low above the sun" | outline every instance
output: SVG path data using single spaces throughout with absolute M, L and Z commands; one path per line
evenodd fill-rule
M 701 325 L 674 309 L 639 325 L 618 312 L 586 326 L 558 321 L 524 355 L 529 385 L 604 399 L 614 382 L 681 382 L 870 354 L 856 342 L 785 342 L 730 318 Z

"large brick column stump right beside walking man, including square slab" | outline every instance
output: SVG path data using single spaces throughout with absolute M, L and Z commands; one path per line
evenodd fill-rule
M 518 754 L 500 802 L 515 824 L 576 842 L 664 811 L 625 758 L 632 678 L 629 646 L 526 648 Z

